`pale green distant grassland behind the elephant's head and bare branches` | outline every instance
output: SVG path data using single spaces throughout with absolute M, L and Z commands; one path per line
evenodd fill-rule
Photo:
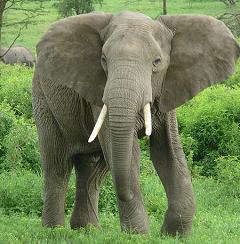
M 44 2 L 47 13 L 37 17 L 35 25 L 29 25 L 22 31 L 17 44 L 29 47 L 35 52 L 35 46 L 41 36 L 47 31 L 49 25 L 58 19 L 57 11 L 53 8 L 54 1 Z M 33 4 L 33 3 L 31 3 Z M 34 6 L 34 5 L 32 5 Z M 104 0 L 102 7 L 96 6 L 97 11 L 117 13 L 124 10 L 138 11 L 155 18 L 162 13 L 162 1 L 151 0 Z M 169 14 L 207 14 L 217 16 L 224 13 L 228 8 L 218 0 L 171 0 L 168 1 Z M 9 11 L 6 15 L 6 21 L 19 21 L 23 14 L 19 11 Z M 12 26 L 3 29 L 3 46 L 9 45 L 17 34 L 18 26 Z

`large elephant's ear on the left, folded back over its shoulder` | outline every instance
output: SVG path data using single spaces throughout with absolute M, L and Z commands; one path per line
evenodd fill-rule
M 101 106 L 106 76 L 101 67 L 100 32 L 111 18 L 111 14 L 90 13 L 53 24 L 37 45 L 40 82 L 67 86 Z

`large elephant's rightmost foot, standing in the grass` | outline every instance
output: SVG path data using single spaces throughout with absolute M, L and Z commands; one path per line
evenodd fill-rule
M 167 210 L 161 235 L 186 236 L 191 232 L 193 214 L 181 215 L 175 211 Z

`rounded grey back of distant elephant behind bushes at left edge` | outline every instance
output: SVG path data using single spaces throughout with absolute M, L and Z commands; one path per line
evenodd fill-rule
M 35 63 L 32 53 L 22 46 L 11 47 L 9 50 L 3 47 L 0 49 L 0 57 L 5 64 L 23 64 L 32 68 Z

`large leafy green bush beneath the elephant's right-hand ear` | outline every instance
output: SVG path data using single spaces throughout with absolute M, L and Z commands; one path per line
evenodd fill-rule
M 184 151 L 202 175 L 216 175 L 216 158 L 240 155 L 240 87 L 209 88 L 177 116 Z

